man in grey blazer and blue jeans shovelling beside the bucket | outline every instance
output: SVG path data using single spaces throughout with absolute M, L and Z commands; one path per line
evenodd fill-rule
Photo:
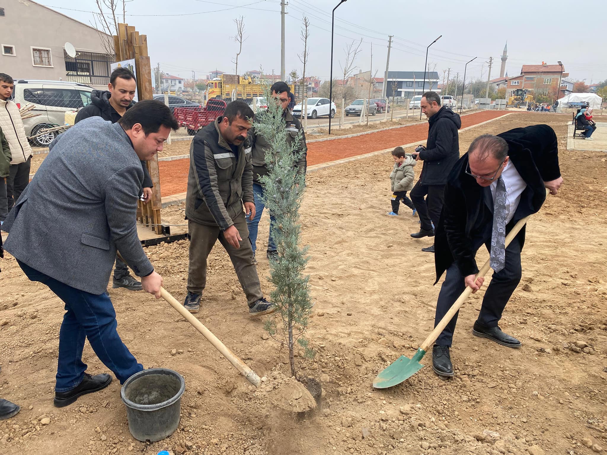
M 65 303 L 59 331 L 55 406 L 67 406 L 109 385 L 81 360 L 84 339 L 124 383 L 143 369 L 120 340 L 107 281 L 118 250 L 160 298 L 162 278 L 137 237 L 140 160 L 162 150 L 177 121 L 160 101 L 144 100 L 118 123 L 81 121 L 50 144 L 49 156 L 2 225 L 4 244 L 32 281 L 49 286 Z

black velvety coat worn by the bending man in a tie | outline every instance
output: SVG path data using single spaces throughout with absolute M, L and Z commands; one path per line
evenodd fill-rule
M 509 232 L 518 220 L 540 210 L 546 199 L 544 181 L 560 177 L 558 142 L 557 135 L 548 125 L 515 128 L 498 136 L 508 143 L 510 161 L 527 183 L 514 218 L 506 226 L 506 232 Z M 483 194 L 490 189 L 481 187 L 473 177 L 465 173 L 467 164 L 466 153 L 455 163 L 447 181 L 443 212 L 435 237 L 436 281 L 453 261 L 464 276 L 478 272 L 472 237 L 475 233 L 478 235 L 479 229 L 493 223 L 493 214 L 487 207 Z M 517 235 L 521 248 L 525 238 L 524 229 L 523 226 Z

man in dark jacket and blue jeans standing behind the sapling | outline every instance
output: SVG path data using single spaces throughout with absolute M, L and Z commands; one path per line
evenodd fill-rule
M 284 87 L 279 86 L 278 84 L 283 84 Z M 296 163 L 296 166 L 302 174 L 305 174 L 307 161 L 307 146 L 305 143 L 305 133 L 304 127 L 301 122 L 293 117 L 291 114 L 288 104 L 290 103 L 290 99 L 293 99 L 293 93 L 288 91 L 288 86 L 285 83 L 276 83 L 272 87 L 276 86 L 276 92 L 272 89 L 271 95 L 278 100 L 280 106 L 283 110 L 283 118 L 285 119 L 287 131 L 289 135 L 287 136 L 288 142 L 291 144 L 296 139 L 299 141 L 297 145 L 297 150 L 301 150 L 302 154 L 299 157 L 299 160 Z M 285 89 L 286 87 L 286 89 Z M 280 91 L 283 90 L 283 91 Z M 265 209 L 265 205 L 263 204 L 263 186 L 260 183 L 260 177 L 262 175 L 268 174 L 268 168 L 265 164 L 265 152 L 268 149 L 269 144 L 265 140 L 262 135 L 257 135 L 255 132 L 255 123 L 256 119 L 253 119 L 253 128 L 251 128 L 251 132 L 249 133 L 253 145 L 253 151 L 251 152 L 253 158 L 253 194 L 255 197 L 255 217 L 253 220 L 247 220 L 246 224 L 249 228 L 249 240 L 251 240 L 251 247 L 253 248 L 253 255 L 255 255 L 257 249 L 257 231 L 259 227 L 259 220 L 262 218 L 263 209 Z M 299 134 L 301 132 L 301 134 Z M 270 214 L 270 222 L 274 221 L 274 216 Z M 270 236 L 268 237 L 268 249 L 266 251 L 266 256 L 276 257 L 276 243 L 274 242 L 274 238 L 272 237 L 272 231 L 270 230 Z

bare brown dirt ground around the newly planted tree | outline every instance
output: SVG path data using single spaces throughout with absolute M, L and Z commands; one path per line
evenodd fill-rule
M 116 380 L 74 405 L 52 405 L 63 305 L 30 283 L 7 255 L 0 296 L 0 396 L 21 413 L 0 422 L 3 455 L 143 454 L 594 454 L 607 450 L 607 163 L 601 152 L 566 150 L 566 126 L 551 114 L 510 115 L 463 132 L 466 150 L 481 133 L 549 123 L 560 138 L 565 184 L 529 221 L 523 281 L 501 327 L 523 346 L 509 349 L 472 335 L 483 291 L 459 315 L 452 348 L 456 377 L 426 366 L 401 385 L 374 390 L 373 378 L 401 354 L 412 356 L 433 327 L 440 284 L 432 286 L 432 240 L 413 240 L 417 218 L 388 218 L 390 155 L 310 174 L 302 233 L 310 245 L 315 306 L 308 337 L 312 360 L 297 357 L 302 376 L 319 379 L 319 411 L 296 422 L 231 365 L 162 300 L 108 289 L 118 331 L 144 367 L 163 366 L 186 380 L 181 422 L 156 443 L 134 440 Z M 403 141 L 406 142 L 406 141 Z M 378 149 L 384 146 L 378 144 Z M 419 175 L 416 169 L 416 174 Z M 170 212 L 169 212 L 170 211 Z M 179 207 L 164 221 L 183 222 Z M 267 239 L 268 218 L 260 224 Z M 263 241 L 258 244 L 264 251 Z M 188 241 L 146 249 L 164 286 L 185 296 Z M 266 294 L 268 262 L 259 255 Z M 478 261 L 487 253 L 481 251 Z M 285 352 L 250 320 L 228 256 L 209 256 L 207 289 L 197 314 L 220 340 L 273 385 L 287 372 Z M 175 349 L 175 355 L 172 355 Z M 87 344 L 92 373 L 107 371 Z M 424 357 L 429 365 L 430 354 Z M 265 390 L 264 389 L 264 390 Z M 50 423 L 44 425 L 44 423 Z

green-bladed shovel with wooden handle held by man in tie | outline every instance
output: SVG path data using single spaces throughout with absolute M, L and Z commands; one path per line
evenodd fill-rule
M 524 224 L 527 223 L 528 219 L 529 217 L 524 217 L 514 225 L 512 230 L 506 236 L 506 246 L 510 244 L 512 239 L 518 234 L 518 231 L 520 231 Z M 487 262 L 484 264 L 483 268 L 481 268 L 478 274 L 476 274 L 475 281 L 479 277 L 484 277 L 488 271 L 489 259 L 487 259 Z M 373 387 L 376 389 L 385 389 L 395 386 L 404 380 L 409 379 L 420 369 L 424 368 L 424 365 L 419 363 L 419 361 L 422 359 L 422 357 L 424 357 L 424 355 L 426 355 L 426 351 L 434 344 L 438 338 L 438 335 L 440 335 L 447 324 L 449 324 L 450 320 L 453 318 L 455 313 L 459 311 L 459 308 L 461 308 L 466 301 L 466 298 L 468 298 L 470 294 L 472 294 L 472 288 L 470 288 L 470 286 L 466 286 L 464 292 L 459 295 L 458 299 L 455 301 L 455 303 L 453 303 L 449 311 L 447 311 L 447 314 L 441 319 L 441 322 L 439 322 L 432 333 L 428 335 L 426 341 L 419 346 L 419 349 L 417 352 L 415 352 L 413 358 L 409 359 L 409 357 L 405 356 L 399 357 L 396 362 L 393 362 L 375 377 Z

